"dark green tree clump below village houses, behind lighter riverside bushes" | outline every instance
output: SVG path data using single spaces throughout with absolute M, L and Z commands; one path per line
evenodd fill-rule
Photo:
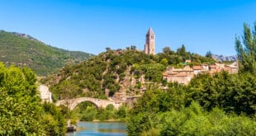
M 218 106 L 240 115 L 256 113 L 256 78 L 250 73 L 230 75 L 222 72 L 211 76 L 200 74 L 187 87 L 186 103 L 198 101 L 206 110 Z

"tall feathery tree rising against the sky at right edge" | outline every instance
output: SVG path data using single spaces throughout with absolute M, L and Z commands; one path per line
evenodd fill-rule
M 244 24 L 243 44 L 239 38 L 235 39 L 235 49 L 239 59 L 239 71 L 256 73 L 256 22 L 254 30 Z

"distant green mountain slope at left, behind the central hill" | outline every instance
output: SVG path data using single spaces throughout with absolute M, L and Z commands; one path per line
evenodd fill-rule
M 45 45 L 31 35 L 0 30 L 0 61 L 9 65 L 32 68 L 38 75 L 46 76 L 65 64 L 78 63 L 92 54 L 68 51 Z

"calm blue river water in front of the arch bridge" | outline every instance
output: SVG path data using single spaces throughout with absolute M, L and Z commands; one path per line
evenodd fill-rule
M 120 122 L 78 122 L 77 131 L 66 136 L 126 136 L 126 124 Z

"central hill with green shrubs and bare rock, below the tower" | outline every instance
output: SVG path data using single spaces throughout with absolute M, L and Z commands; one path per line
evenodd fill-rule
M 43 82 L 50 85 L 55 101 L 78 96 L 135 96 L 143 94 L 149 84 L 166 84 L 162 79 L 166 67 L 184 67 L 186 59 L 191 59 L 190 65 L 215 62 L 187 52 L 184 45 L 177 51 L 166 47 L 163 53 L 156 55 L 145 54 L 135 46 L 117 50 L 107 48 L 105 53 L 66 66 Z

